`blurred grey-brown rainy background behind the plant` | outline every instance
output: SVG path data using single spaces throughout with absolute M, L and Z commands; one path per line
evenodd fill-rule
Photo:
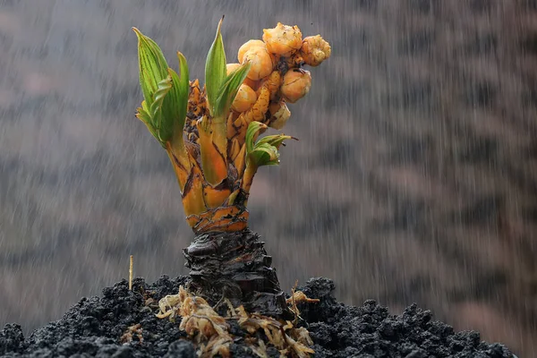
M 132 26 L 203 78 L 277 21 L 331 58 L 290 107 L 251 228 L 286 291 L 416 302 L 537 355 L 537 2 L 0 0 L 0 328 L 58 320 L 128 276 L 187 273 L 193 234 L 166 152 L 134 117 Z

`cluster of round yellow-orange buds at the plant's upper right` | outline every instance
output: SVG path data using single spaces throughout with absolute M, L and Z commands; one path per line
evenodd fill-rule
M 262 41 L 251 39 L 243 44 L 237 55 L 239 64 L 227 64 L 227 72 L 231 73 L 240 64 L 251 62 L 232 105 L 234 112 L 240 114 L 234 126 L 247 125 L 252 120 L 264 122 L 268 111 L 268 126 L 281 129 L 291 115 L 286 102 L 296 102 L 311 88 L 311 73 L 302 65 L 318 66 L 330 53 L 328 42 L 320 35 L 302 38 L 297 26 L 281 22 L 274 29 L 263 30 Z

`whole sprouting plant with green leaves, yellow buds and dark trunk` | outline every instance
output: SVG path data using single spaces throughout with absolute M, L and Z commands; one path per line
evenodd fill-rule
M 278 23 L 264 30 L 262 40 L 240 47 L 238 63 L 227 63 L 222 20 L 207 55 L 204 86 L 190 80 L 183 54 L 177 52 L 175 72 L 157 43 L 133 28 L 144 97 L 136 116 L 166 149 L 186 221 L 197 235 L 184 250 L 189 290 L 211 304 L 226 299 L 288 318 L 271 258 L 247 227 L 246 207 L 259 167 L 278 165 L 278 149 L 294 139 L 260 134 L 284 127 L 291 115 L 286 104 L 311 88 L 311 73 L 303 65 L 319 65 L 331 48 L 319 35 L 303 39 L 298 27 Z

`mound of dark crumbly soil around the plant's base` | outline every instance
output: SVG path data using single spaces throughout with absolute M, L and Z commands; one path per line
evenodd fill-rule
M 8 357 L 195 357 L 194 346 L 185 340 L 179 322 L 160 320 L 145 306 L 146 298 L 160 299 L 176 294 L 187 277 L 161 277 L 152 285 L 134 280 L 132 292 L 127 281 L 103 290 L 102 297 L 82 298 L 62 320 L 38 328 L 24 338 L 21 326 L 8 324 L 0 331 L 0 354 Z M 487 344 L 477 332 L 455 333 L 446 324 L 432 320 L 430 311 L 415 305 L 399 316 L 386 307 L 367 301 L 361 307 L 337 303 L 334 283 L 312 278 L 299 287 L 320 303 L 299 305 L 303 325 L 309 329 L 318 357 L 513 357 L 499 344 Z M 136 331 L 124 344 L 125 332 Z M 240 329 L 233 328 L 235 335 Z M 231 347 L 234 357 L 253 354 L 241 338 Z M 274 347 L 269 356 L 279 356 Z

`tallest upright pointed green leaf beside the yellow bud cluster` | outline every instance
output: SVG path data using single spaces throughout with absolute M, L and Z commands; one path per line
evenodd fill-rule
M 209 49 L 207 62 L 205 63 L 205 88 L 209 101 L 210 114 L 214 114 L 214 106 L 217 103 L 218 91 L 226 80 L 226 52 L 220 28 L 224 17 L 218 22 L 217 36 Z M 213 115 L 214 116 L 214 115 Z

